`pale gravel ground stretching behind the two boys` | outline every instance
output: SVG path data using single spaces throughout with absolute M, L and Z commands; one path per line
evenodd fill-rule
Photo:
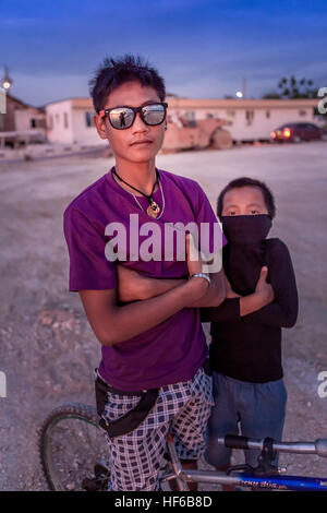
M 301 301 L 296 326 L 283 334 L 284 440 L 327 438 L 327 398 L 317 394 L 318 373 L 327 371 L 326 162 L 323 142 L 159 155 L 157 160 L 158 167 L 196 179 L 214 207 L 227 181 L 243 175 L 266 180 L 276 194 L 271 235 L 290 248 Z M 1 490 L 47 489 L 37 454 L 39 426 L 60 404 L 94 403 L 100 346 L 78 295 L 68 293 L 62 213 L 111 164 L 86 156 L 0 164 L 0 371 L 7 375 L 7 397 L 0 397 Z M 289 463 L 291 474 L 327 476 L 327 462 L 316 456 L 282 456 L 281 463 Z

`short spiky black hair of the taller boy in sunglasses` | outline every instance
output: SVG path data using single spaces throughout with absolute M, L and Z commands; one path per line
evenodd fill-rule
M 120 85 L 138 81 L 143 86 L 156 90 L 160 102 L 165 100 L 166 87 L 158 71 L 150 67 L 140 56 L 125 55 L 120 58 L 106 57 L 88 82 L 89 94 L 96 112 L 99 112 L 107 102 L 109 94 Z

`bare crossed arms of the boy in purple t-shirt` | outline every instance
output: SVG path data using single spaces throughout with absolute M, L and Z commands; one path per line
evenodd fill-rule
M 189 253 L 187 242 L 187 267 L 192 276 L 202 271 L 203 262 L 201 259 L 193 262 Z M 149 279 L 122 265 L 118 267 L 123 274 L 118 270 L 117 289 L 78 291 L 88 322 L 105 346 L 137 336 L 184 308 L 216 306 L 226 297 L 222 272 L 213 275 L 208 286 L 207 281 L 196 276 Z

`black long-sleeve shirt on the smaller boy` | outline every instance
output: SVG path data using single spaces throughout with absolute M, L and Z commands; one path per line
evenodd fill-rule
M 202 308 L 202 322 L 211 322 L 210 366 L 217 372 L 254 383 L 282 378 L 281 327 L 298 318 L 298 290 L 292 261 L 280 239 L 223 248 L 223 269 L 237 294 L 254 293 L 263 265 L 275 293 L 274 302 L 240 317 L 240 298 Z

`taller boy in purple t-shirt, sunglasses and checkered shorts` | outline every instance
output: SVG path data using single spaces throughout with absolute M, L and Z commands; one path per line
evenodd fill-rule
M 203 272 L 191 242 L 198 228 L 201 248 L 213 252 L 211 241 L 202 246 L 201 224 L 210 232 L 219 225 L 197 182 L 155 166 L 167 110 L 156 70 L 131 56 L 106 59 L 90 88 L 94 121 L 116 166 L 64 212 L 70 290 L 78 291 L 101 344 L 96 398 L 109 443 L 110 489 L 156 490 L 169 429 L 186 467 L 196 468 L 204 450 L 213 399 L 197 307 L 219 305 L 225 279 L 221 271 Z M 175 223 L 193 224 L 186 244 L 180 229 L 182 248 L 166 240 Z M 158 295 L 119 301 L 118 262 L 160 278 Z

